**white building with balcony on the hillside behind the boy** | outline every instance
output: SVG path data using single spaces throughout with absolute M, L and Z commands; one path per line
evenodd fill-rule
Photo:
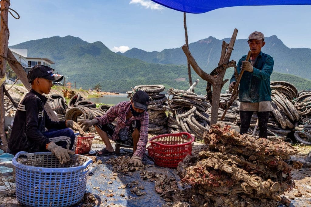
M 46 65 L 51 67 L 52 64 L 55 64 L 49 58 L 43 57 L 28 57 L 27 49 L 14 49 L 10 48 L 11 52 L 15 56 L 16 60 L 21 63 L 21 66 L 24 68 L 26 74 L 29 70 L 35 65 Z M 51 67 L 53 69 L 53 67 Z M 53 69 L 53 72 L 55 70 Z

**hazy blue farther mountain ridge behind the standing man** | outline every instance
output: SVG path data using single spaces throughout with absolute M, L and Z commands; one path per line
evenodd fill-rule
M 223 39 L 227 43 L 229 38 Z M 223 40 L 214 37 L 190 43 L 190 52 L 194 56 L 198 65 L 205 71 L 211 72 L 218 65 Z M 275 72 L 298 75 L 303 78 L 311 79 L 311 49 L 309 48 L 288 48 L 275 35 L 266 37 L 266 45 L 262 47 L 262 52 L 271 55 L 274 59 Z M 249 50 L 247 39 L 237 39 L 231 59 L 239 61 Z M 122 53 L 119 53 L 122 54 Z M 137 48 L 132 48 L 122 54 L 130 58 L 137 58 L 143 61 L 160 64 L 186 65 L 187 59 L 181 49 L 165 49 L 161 52 L 146 52 Z

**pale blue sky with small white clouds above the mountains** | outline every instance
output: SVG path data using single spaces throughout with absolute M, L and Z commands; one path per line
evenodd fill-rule
M 152 52 L 185 43 L 183 12 L 150 0 L 11 0 L 9 45 L 71 35 L 100 41 L 114 52 L 137 47 Z M 14 14 L 14 13 L 13 13 Z M 213 36 L 237 39 L 253 31 L 276 35 L 290 48 L 311 48 L 311 5 L 227 7 L 203 14 L 187 13 L 189 43 Z

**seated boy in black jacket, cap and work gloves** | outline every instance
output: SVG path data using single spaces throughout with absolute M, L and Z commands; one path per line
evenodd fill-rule
M 53 74 L 48 66 L 35 65 L 27 78 L 32 89 L 18 104 L 8 147 L 12 154 L 51 151 L 61 164 L 66 163 L 69 155 L 75 154 L 71 151 L 75 136 L 68 127 L 79 130 L 82 135 L 84 132 L 72 120 L 52 121 L 44 110 L 47 98 L 42 95 L 49 94 L 52 81 L 61 81 L 63 76 Z

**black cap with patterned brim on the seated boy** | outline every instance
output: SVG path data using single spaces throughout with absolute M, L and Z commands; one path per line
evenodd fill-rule
M 28 82 L 31 83 L 35 78 L 45 78 L 54 82 L 63 80 L 63 75 L 54 74 L 53 69 L 45 65 L 35 65 L 28 72 Z

